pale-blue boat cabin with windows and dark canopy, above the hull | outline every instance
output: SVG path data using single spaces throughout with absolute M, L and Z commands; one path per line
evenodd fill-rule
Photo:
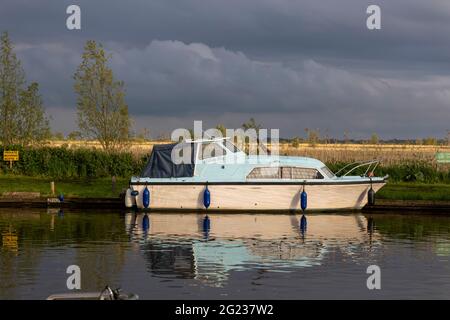
M 334 179 L 321 161 L 307 157 L 248 156 L 229 138 L 155 145 L 139 181 L 274 181 Z

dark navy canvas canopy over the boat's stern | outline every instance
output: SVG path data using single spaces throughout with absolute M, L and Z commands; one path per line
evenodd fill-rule
M 174 150 L 174 149 L 182 150 Z M 187 148 L 187 149 L 186 149 Z M 172 161 L 172 150 L 179 154 L 189 151 L 191 154 L 190 163 L 175 164 Z M 148 178 L 180 178 L 192 177 L 194 175 L 194 144 L 193 143 L 173 143 L 157 144 L 153 146 L 150 159 L 147 162 L 141 177 Z

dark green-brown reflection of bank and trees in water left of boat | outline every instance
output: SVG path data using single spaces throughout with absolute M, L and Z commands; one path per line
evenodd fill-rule
M 128 236 L 123 230 L 123 216 L 116 213 L 42 213 L 0 211 L 0 233 L 12 228 L 18 237 L 18 254 L 4 248 L 0 252 L 0 297 L 20 298 L 15 294 L 21 282 L 36 283 L 38 266 L 44 250 L 74 247 L 75 258 L 62 263 L 77 264 L 82 272 L 82 289 L 101 289 L 119 274 L 125 262 L 124 244 Z M 97 244 L 99 244 L 97 246 Z M 87 272 L 83 272 L 86 270 Z M 111 284 L 113 285 L 113 284 Z

